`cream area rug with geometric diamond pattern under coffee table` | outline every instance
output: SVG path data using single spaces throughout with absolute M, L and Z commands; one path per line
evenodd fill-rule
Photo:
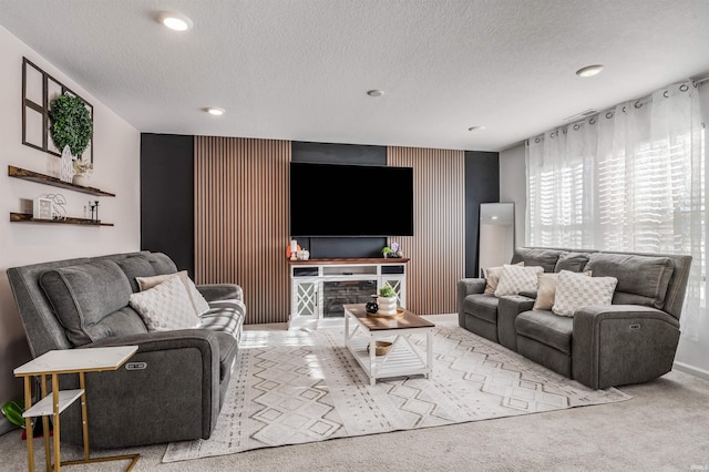
M 370 386 L 345 348 L 342 328 L 244 331 L 212 437 L 169 443 L 163 462 L 631 398 L 615 388 L 592 390 L 460 327 L 433 332 L 430 379 Z M 425 335 L 410 340 L 424 351 Z

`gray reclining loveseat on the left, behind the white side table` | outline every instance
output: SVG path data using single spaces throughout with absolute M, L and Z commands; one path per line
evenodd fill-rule
M 55 349 L 137 346 L 116 371 L 85 376 L 89 438 L 122 448 L 209 438 L 235 365 L 245 316 L 242 288 L 197 286 L 209 302 L 196 329 L 148 332 L 129 304 L 136 277 L 176 273 L 162 253 L 126 253 L 8 269 L 33 357 Z M 86 353 L 90 356 L 90 353 Z M 78 388 L 75 374 L 61 389 Z M 78 403 L 62 413 L 63 442 L 82 442 Z

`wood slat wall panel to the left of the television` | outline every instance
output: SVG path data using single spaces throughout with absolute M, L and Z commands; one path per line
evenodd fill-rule
M 286 322 L 290 141 L 195 136 L 195 281 L 244 289 L 245 324 Z

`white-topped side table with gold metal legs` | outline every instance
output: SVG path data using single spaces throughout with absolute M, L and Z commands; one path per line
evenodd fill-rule
M 34 471 L 34 445 L 32 433 L 32 418 L 42 417 L 44 427 L 44 455 L 47 460 L 47 471 L 52 469 L 52 458 L 49 445 L 49 420 L 52 415 L 54 433 L 54 471 L 59 471 L 61 465 L 86 464 L 92 462 L 106 462 L 119 460 L 131 460 L 126 471 L 133 469 L 141 454 L 113 455 L 109 458 L 92 459 L 89 455 L 89 422 L 86 420 L 86 384 L 85 372 L 100 372 L 103 370 L 117 370 L 137 351 L 137 346 L 121 346 L 112 348 L 86 348 L 86 349 L 64 349 L 53 350 L 27 362 L 14 369 L 16 377 L 24 377 L 24 408 L 22 414 L 27 428 L 27 455 L 30 471 Z M 79 373 L 78 390 L 59 390 L 59 376 L 62 373 Z M 47 394 L 47 376 L 52 376 L 52 392 Z M 32 382 L 33 376 L 41 377 L 42 400 L 32 406 Z M 83 425 L 84 459 L 78 461 L 61 462 L 60 460 L 60 421 L 59 415 L 76 399 L 81 398 L 81 420 Z

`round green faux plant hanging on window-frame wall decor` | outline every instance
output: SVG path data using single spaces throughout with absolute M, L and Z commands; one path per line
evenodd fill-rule
M 50 132 L 56 148 L 69 146 L 72 156 L 80 156 L 91 142 L 93 122 L 86 104 L 78 96 L 61 95 L 52 101 L 49 111 Z

